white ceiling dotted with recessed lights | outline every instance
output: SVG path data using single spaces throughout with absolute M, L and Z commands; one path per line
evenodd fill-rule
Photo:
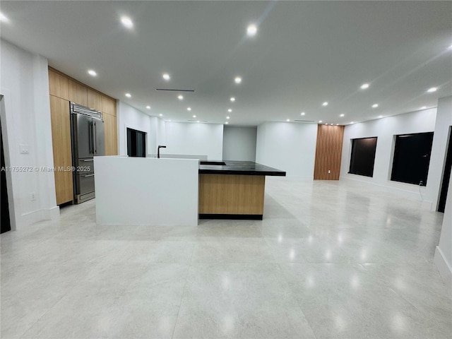
M 2 0 L 0 10 L 2 38 L 165 120 L 349 124 L 436 107 L 452 93 L 451 1 Z M 180 101 L 155 88 L 196 92 Z

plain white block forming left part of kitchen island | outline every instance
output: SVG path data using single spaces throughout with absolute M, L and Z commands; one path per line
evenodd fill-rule
M 99 225 L 198 225 L 197 159 L 94 157 Z

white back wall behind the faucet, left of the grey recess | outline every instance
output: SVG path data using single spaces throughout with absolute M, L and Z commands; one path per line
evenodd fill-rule
M 209 160 L 222 160 L 222 141 L 222 124 L 167 122 L 167 148 L 163 152 L 179 155 L 207 155 Z

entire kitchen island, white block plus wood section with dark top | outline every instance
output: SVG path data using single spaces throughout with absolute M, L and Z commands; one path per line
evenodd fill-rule
M 99 225 L 198 225 L 198 218 L 262 220 L 265 176 L 246 161 L 94 157 Z

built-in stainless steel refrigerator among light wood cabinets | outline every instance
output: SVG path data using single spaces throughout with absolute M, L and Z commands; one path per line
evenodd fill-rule
M 102 112 L 71 102 L 74 203 L 95 197 L 94 157 L 105 155 Z

